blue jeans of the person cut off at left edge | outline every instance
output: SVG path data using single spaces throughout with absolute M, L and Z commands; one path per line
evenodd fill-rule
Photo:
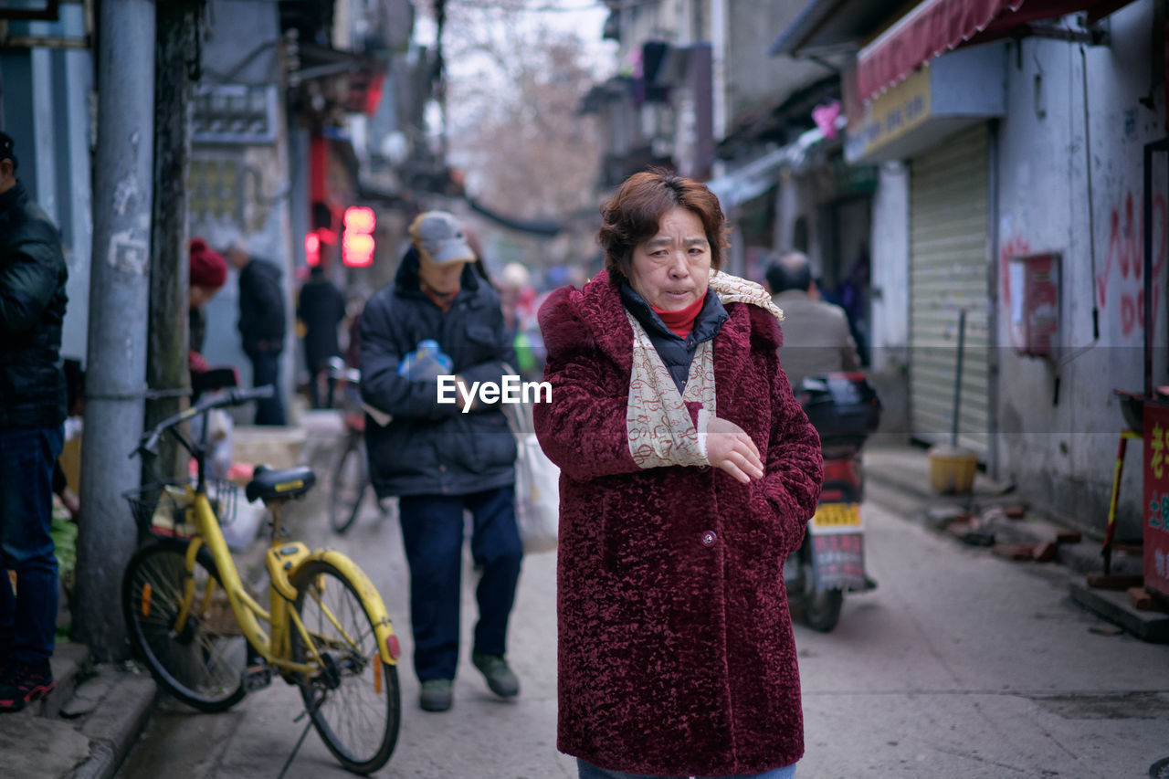
M 63 428 L 0 429 L 0 653 L 21 663 L 53 656 L 57 627 L 57 558 L 53 536 L 53 467 Z M 7 572 L 16 572 L 13 593 Z

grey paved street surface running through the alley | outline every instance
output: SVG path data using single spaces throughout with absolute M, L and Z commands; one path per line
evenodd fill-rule
M 1146 777 L 1169 757 L 1169 647 L 1075 608 L 1063 568 L 963 547 L 883 508 L 897 495 L 871 488 L 870 497 L 883 498 L 864 506 L 879 590 L 846 600 L 829 635 L 796 628 L 802 777 L 1112 779 Z M 402 732 L 376 775 L 575 777 L 555 751 L 554 556 L 525 560 L 511 632 L 520 698 L 493 698 L 464 650 L 455 706 L 434 715 L 416 704 L 396 522 L 371 510 L 340 539 L 324 519 L 302 524 L 310 546 L 340 547 L 366 568 L 402 635 Z M 468 566 L 464 604 L 472 586 Z M 470 635 L 473 609 L 464 618 Z M 119 775 L 275 779 L 304 728 L 292 722 L 298 705 L 278 681 L 223 715 L 164 704 Z M 310 732 L 286 775 L 348 774 Z

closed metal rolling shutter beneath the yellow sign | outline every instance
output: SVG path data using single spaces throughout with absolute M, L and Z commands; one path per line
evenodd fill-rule
M 950 439 L 964 308 L 959 444 L 981 460 L 990 433 L 987 153 L 987 125 L 978 124 L 909 164 L 909 432 Z

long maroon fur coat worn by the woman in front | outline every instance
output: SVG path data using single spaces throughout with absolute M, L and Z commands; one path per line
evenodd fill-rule
M 607 274 L 540 310 L 552 402 L 535 427 L 561 468 L 558 747 L 604 768 L 753 774 L 803 754 L 782 568 L 819 496 L 819 439 L 780 370 L 775 317 L 726 309 L 717 411 L 759 447 L 766 476 L 749 485 L 635 463 L 634 335 Z

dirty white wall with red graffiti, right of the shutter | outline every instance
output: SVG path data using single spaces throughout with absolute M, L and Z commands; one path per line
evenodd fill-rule
M 1153 83 L 1153 0 L 1111 18 L 1112 44 L 1086 49 L 1091 185 L 1088 201 L 1080 48 L 1026 39 L 1008 50 L 1008 112 L 999 124 L 997 261 L 998 462 L 1001 476 L 1085 526 L 1107 516 L 1123 426 L 1113 388 L 1142 388 L 1140 297 L 1142 147 L 1165 133 L 1163 85 Z M 1153 95 L 1154 109 L 1139 101 Z M 1161 170 L 1164 170 L 1161 157 Z M 1164 181 L 1156 191 L 1154 256 L 1157 354 L 1165 373 Z M 1132 212 L 1129 212 L 1132 204 Z M 1132 213 L 1132 219 L 1129 218 Z M 1094 270 L 1093 234 L 1094 228 Z M 1063 255 L 1061 360 L 1019 357 L 1011 342 L 1008 258 Z M 1134 264 L 1135 263 L 1135 264 Z M 1100 333 L 1094 338 L 1093 299 Z M 1054 402 L 1056 380 L 1059 398 Z M 1121 536 L 1140 535 L 1140 447 L 1129 447 Z

